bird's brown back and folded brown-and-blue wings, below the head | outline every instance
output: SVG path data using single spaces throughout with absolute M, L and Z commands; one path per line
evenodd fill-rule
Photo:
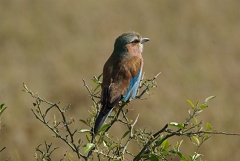
M 120 99 L 127 101 L 137 93 L 142 75 L 143 61 L 137 56 L 125 57 L 114 65 L 106 63 L 103 72 L 102 101 L 115 106 Z M 106 92 L 107 91 L 107 92 Z

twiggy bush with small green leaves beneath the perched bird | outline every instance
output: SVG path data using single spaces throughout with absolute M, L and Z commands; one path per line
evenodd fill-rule
M 155 82 L 157 74 L 152 79 L 143 79 L 139 87 L 139 95 L 137 99 L 142 99 L 144 95 L 149 94 L 149 91 L 157 87 Z M 84 86 L 90 94 L 93 106 L 92 111 L 89 112 L 89 117 L 86 120 L 80 119 L 88 128 L 86 129 L 74 129 L 72 127 L 73 118 L 67 118 L 66 113 L 70 106 L 61 108 L 59 103 L 52 103 L 38 94 L 34 94 L 24 84 L 24 91 L 29 93 L 34 99 L 33 114 L 36 118 L 51 130 L 56 138 L 65 142 L 71 149 L 72 154 L 75 157 L 69 157 L 70 155 L 64 154 L 62 160 L 171 160 L 175 157 L 179 157 L 183 161 L 196 161 L 201 160 L 202 154 L 199 152 L 199 147 L 207 141 L 213 134 L 227 134 L 227 135 L 239 135 L 229 134 L 224 132 L 217 132 L 212 129 L 210 123 L 204 123 L 202 120 L 198 120 L 199 114 L 208 107 L 207 103 L 215 96 L 210 96 L 203 102 L 193 103 L 191 100 L 187 100 L 189 103 L 188 115 L 183 122 L 170 122 L 156 132 L 149 132 L 148 129 L 136 129 L 134 126 L 138 121 L 138 116 L 131 120 L 128 117 L 127 105 L 131 102 L 119 102 L 119 108 L 112 115 L 109 116 L 109 123 L 103 125 L 98 131 L 97 135 L 92 133 L 92 128 L 96 116 L 101 108 L 99 103 L 100 99 L 100 85 L 101 76 L 94 77 L 93 82 L 96 84 L 95 88 L 90 88 L 83 80 Z M 43 106 L 47 106 L 43 108 Z M 60 114 L 60 120 L 48 120 L 50 111 L 56 109 Z M 113 124 L 123 124 L 127 127 L 126 131 L 123 131 L 120 138 L 112 136 L 108 131 Z M 64 127 L 62 129 L 61 127 Z M 184 136 L 191 140 L 193 146 L 196 146 L 196 151 L 193 154 L 184 155 L 180 151 L 183 140 L 177 141 L 175 144 L 170 144 L 169 138 L 178 136 Z M 82 138 L 86 137 L 84 141 Z M 129 149 L 129 143 L 135 142 L 138 144 L 138 153 L 134 154 Z M 39 145 L 36 148 L 36 160 L 51 160 L 51 155 L 57 150 L 57 147 L 52 148 L 52 143 L 48 144 L 45 141 L 45 147 Z

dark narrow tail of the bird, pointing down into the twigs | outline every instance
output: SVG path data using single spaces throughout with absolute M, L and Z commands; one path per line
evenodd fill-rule
M 109 114 L 112 112 L 113 108 L 111 109 L 106 109 L 102 108 L 101 111 L 98 114 L 98 117 L 96 119 L 95 125 L 93 132 L 94 134 L 97 134 L 98 130 L 102 127 L 103 123 L 106 121 L 108 118 Z

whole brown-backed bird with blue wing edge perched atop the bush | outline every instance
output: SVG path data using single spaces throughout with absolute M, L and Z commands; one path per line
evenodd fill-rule
M 94 134 L 119 101 L 127 102 L 136 97 L 142 77 L 143 43 L 147 41 L 149 38 L 142 38 L 134 31 L 123 33 L 115 40 L 113 52 L 103 67 L 101 109 L 93 128 Z

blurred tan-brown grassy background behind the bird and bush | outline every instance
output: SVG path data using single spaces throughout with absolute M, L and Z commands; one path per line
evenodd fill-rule
M 156 131 L 182 122 L 187 99 L 216 95 L 200 119 L 219 131 L 240 133 L 239 6 L 234 0 L 1 0 L 0 103 L 8 109 L 0 131 L 0 148 L 7 148 L 0 160 L 34 160 L 44 140 L 61 147 L 54 160 L 70 151 L 36 120 L 30 110 L 34 99 L 21 91 L 22 83 L 51 102 L 70 103 L 69 116 L 81 129 L 78 120 L 92 106 L 82 79 L 93 85 L 115 38 L 126 31 L 151 39 L 143 53 L 145 76 L 161 72 L 154 95 L 131 102 L 129 117 L 140 115 L 137 128 Z M 112 134 L 122 130 L 115 126 Z M 196 150 L 187 141 L 183 146 L 184 154 Z M 204 160 L 238 160 L 240 137 L 215 135 L 200 152 Z

